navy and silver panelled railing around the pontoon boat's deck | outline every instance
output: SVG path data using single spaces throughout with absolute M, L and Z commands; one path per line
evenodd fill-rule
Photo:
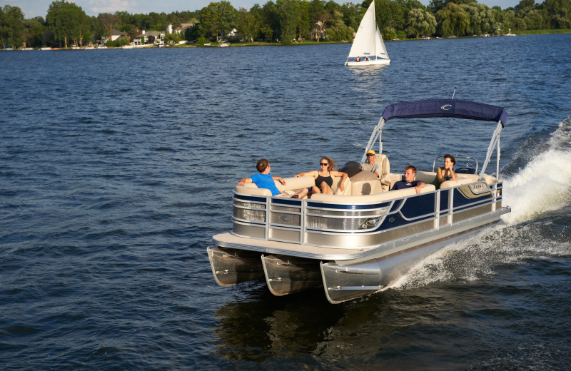
M 322 200 L 235 191 L 233 234 L 303 245 L 373 246 L 402 238 L 411 230 L 429 233 L 501 208 L 501 181 L 447 182 L 440 190 L 427 185 L 420 194 L 322 195 L 328 196 Z

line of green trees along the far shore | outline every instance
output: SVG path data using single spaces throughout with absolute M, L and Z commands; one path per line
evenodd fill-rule
M 197 44 L 266 41 L 291 44 L 299 40 L 351 41 L 370 4 L 325 0 L 276 0 L 251 9 L 236 9 L 229 1 L 212 2 L 196 11 L 170 14 L 129 14 L 116 11 L 88 16 L 81 6 L 65 0 L 49 6 L 46 19 L 25 19 L 18 6 L 0 8 L 0 46 L 84 46 L 111 36 L 113 29 L 133 40 L 138 30 L 165 31 L 191 24 L 183 38 Z M 526 30 L 571 29 L 571 0 L 521 0 L 502 10 L 476 0 L 377 0 L 375 15 L 383 39 L 420 36 L 472 36 Z M 176 38 L 173 38 L 176 39 Z

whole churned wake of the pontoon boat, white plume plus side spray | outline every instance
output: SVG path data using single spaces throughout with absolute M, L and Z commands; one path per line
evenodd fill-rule
M 496 274 L 498 265 L 571 255 L 565 225 L 571 209 L 571 117 L 551 134 L 545 151 L 504 181 L 506 225 L 488 228 L 426 258 L 389 288 L 462 283 Z M 525 228 L 522 226 L 525 225 Z M 559 231 L 559 232 L 556 232 Z

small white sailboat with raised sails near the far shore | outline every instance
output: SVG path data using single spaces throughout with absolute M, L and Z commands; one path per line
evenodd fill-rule
M 375 21 L 375 1 L 370 3 L 369 8 L 361 20 L 353 46 L 349 51 L 345 66 L 369 66 L 372 64 L 389 64 L 387 49 L 383 43 L 383 37 Z

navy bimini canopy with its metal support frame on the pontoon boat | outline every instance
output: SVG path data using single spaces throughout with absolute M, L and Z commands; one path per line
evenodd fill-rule
M 463 101 L 460 99 L 429 99 L 427 101 L 405 102 L 390 104 L 385 107 L 383 116 L 381 116 L 377 126 L 370 136 L 367 148 L 361 162 L 365 162 L 366 153 L 370 150 L 377 139 L 379 140 L 379 151 L 383 151 L 383 141 L 381 141 L 381 131 L 385 122 L 391 118 L 430 118 L 430 117 L 455 117 L 467 120 L 493 121 L 497 122 L 497 126 L 492 135 L 490 146 L 487 148 L 486 159 L 480 170 L 480 178 L 484 175 L 487 164 L 497 147 L 497 171 L 500 173 L 500 133 L 507 121 L 507 112 L 505 108 L 492 106 L 490 104 L 477 103 L 472 101 Z

